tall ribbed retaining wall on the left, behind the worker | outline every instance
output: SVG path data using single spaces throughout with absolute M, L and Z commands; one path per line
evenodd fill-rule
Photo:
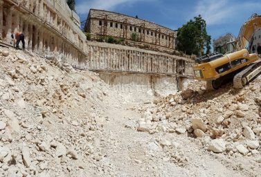
M 0 39 L 10 44 L 11 33 L 21 31 L 27 50 L 83 59 L 85 36 L 70 12 L 64 0 L 0 0 Z

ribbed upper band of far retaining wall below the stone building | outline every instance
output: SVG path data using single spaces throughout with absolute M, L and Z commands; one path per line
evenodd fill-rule
M 91 71 L 179 75 L 192 77 L 194 60 L 151 50 L 88 41 L 87 59 L 70 61 Z

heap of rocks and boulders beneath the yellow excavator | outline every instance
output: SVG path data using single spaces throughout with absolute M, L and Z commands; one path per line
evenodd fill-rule
M 209 91 L 204 82 L 137 106 L 137 131 L 197 138 L 203 149 L 261 159 L 261 77 L 242 89 L 231 84 Z M 175 135 L 174 135 L 175 136 Z

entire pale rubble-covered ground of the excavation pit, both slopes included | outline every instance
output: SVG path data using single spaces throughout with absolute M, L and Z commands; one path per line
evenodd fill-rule
M 0 73 L 0 176 L 261 176 L 261 77 L 135 102 L 20 50 Z

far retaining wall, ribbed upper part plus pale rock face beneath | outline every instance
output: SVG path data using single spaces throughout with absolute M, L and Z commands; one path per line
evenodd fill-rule
M 185 57 L 91 41 L 87 53 L 82 62 L 68 62 L 75 68 L 99 73 L 112 88 L 131 95 L 175 93 L 194 75 L 194 60 Z

